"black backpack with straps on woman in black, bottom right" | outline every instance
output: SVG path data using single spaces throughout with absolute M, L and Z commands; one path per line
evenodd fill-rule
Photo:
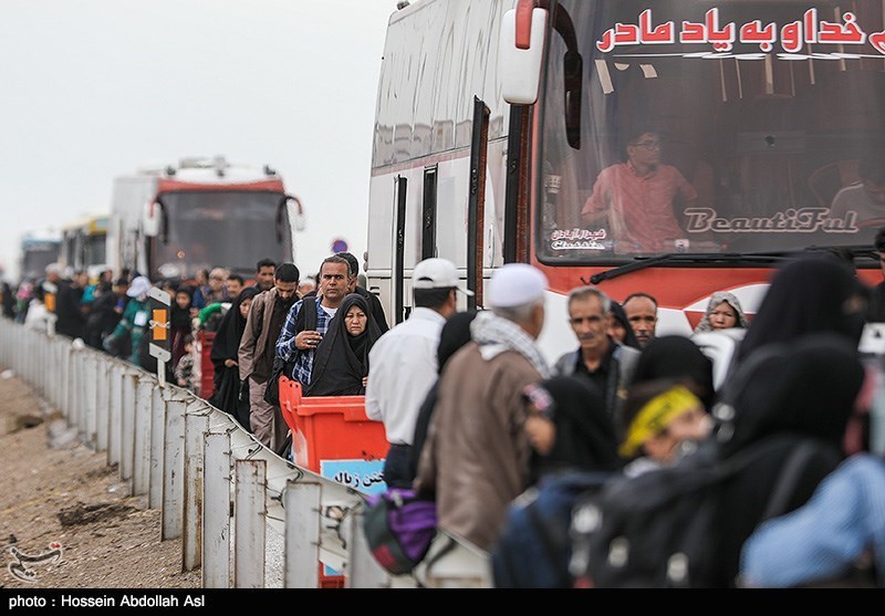
M 730 435 L 731 406 L 757 367 L 787 351 L 759 349 L 732 375 L 714 416 L 718 435 Z M 728 459 L 709 438 L 673 467 L 622 476 L 583 498 L 572 515 L 571 571 L 579 585 L 606 588 L 706 588 L 716 585 L 720 529 L 717 508 L 727 482 L 784 440 L 772 436 Z M 795 442 L 774 483 L 763 520 L 785 513 L 806 463 L 815 457 L 837 463 L 832 445 L 808 437 Z

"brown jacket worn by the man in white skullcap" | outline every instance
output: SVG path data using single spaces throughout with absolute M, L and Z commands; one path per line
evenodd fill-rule
M 436 493 L 441 529 L 483 550 L 498 537 L 510 501 L 528 488 L 522 388 L 540 379 L 519 353 L 486 362 L 471 342 L 449 359 L 439 380 L 415 487 Z

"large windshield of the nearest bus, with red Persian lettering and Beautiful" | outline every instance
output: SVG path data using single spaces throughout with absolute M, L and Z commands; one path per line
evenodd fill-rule
M 872 249 L 885 226 L 882 2 L 551 6 L 540 261 Z

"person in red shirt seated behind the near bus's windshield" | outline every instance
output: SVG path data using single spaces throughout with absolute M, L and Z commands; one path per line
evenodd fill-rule
M 650 128 L 629 133 L 626 160 L 603 169 L 584 203 L 587 229 L 604 229 L 618 254 L 673 252 L 685 238 L 674 208 L 695 205 L 697 190 L 673 165 L 660 161 L 660 135 Z

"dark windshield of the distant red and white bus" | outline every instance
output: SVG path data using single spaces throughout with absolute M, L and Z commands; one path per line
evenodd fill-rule
M 285 216 L 278 219 L 281 192 L 177 191 L 159 199 L 164 222 L 153 242 L 155 275 L 189 278 L 222 267 L 249 276 L 266 257 L 292 259 L 291 228 Z

